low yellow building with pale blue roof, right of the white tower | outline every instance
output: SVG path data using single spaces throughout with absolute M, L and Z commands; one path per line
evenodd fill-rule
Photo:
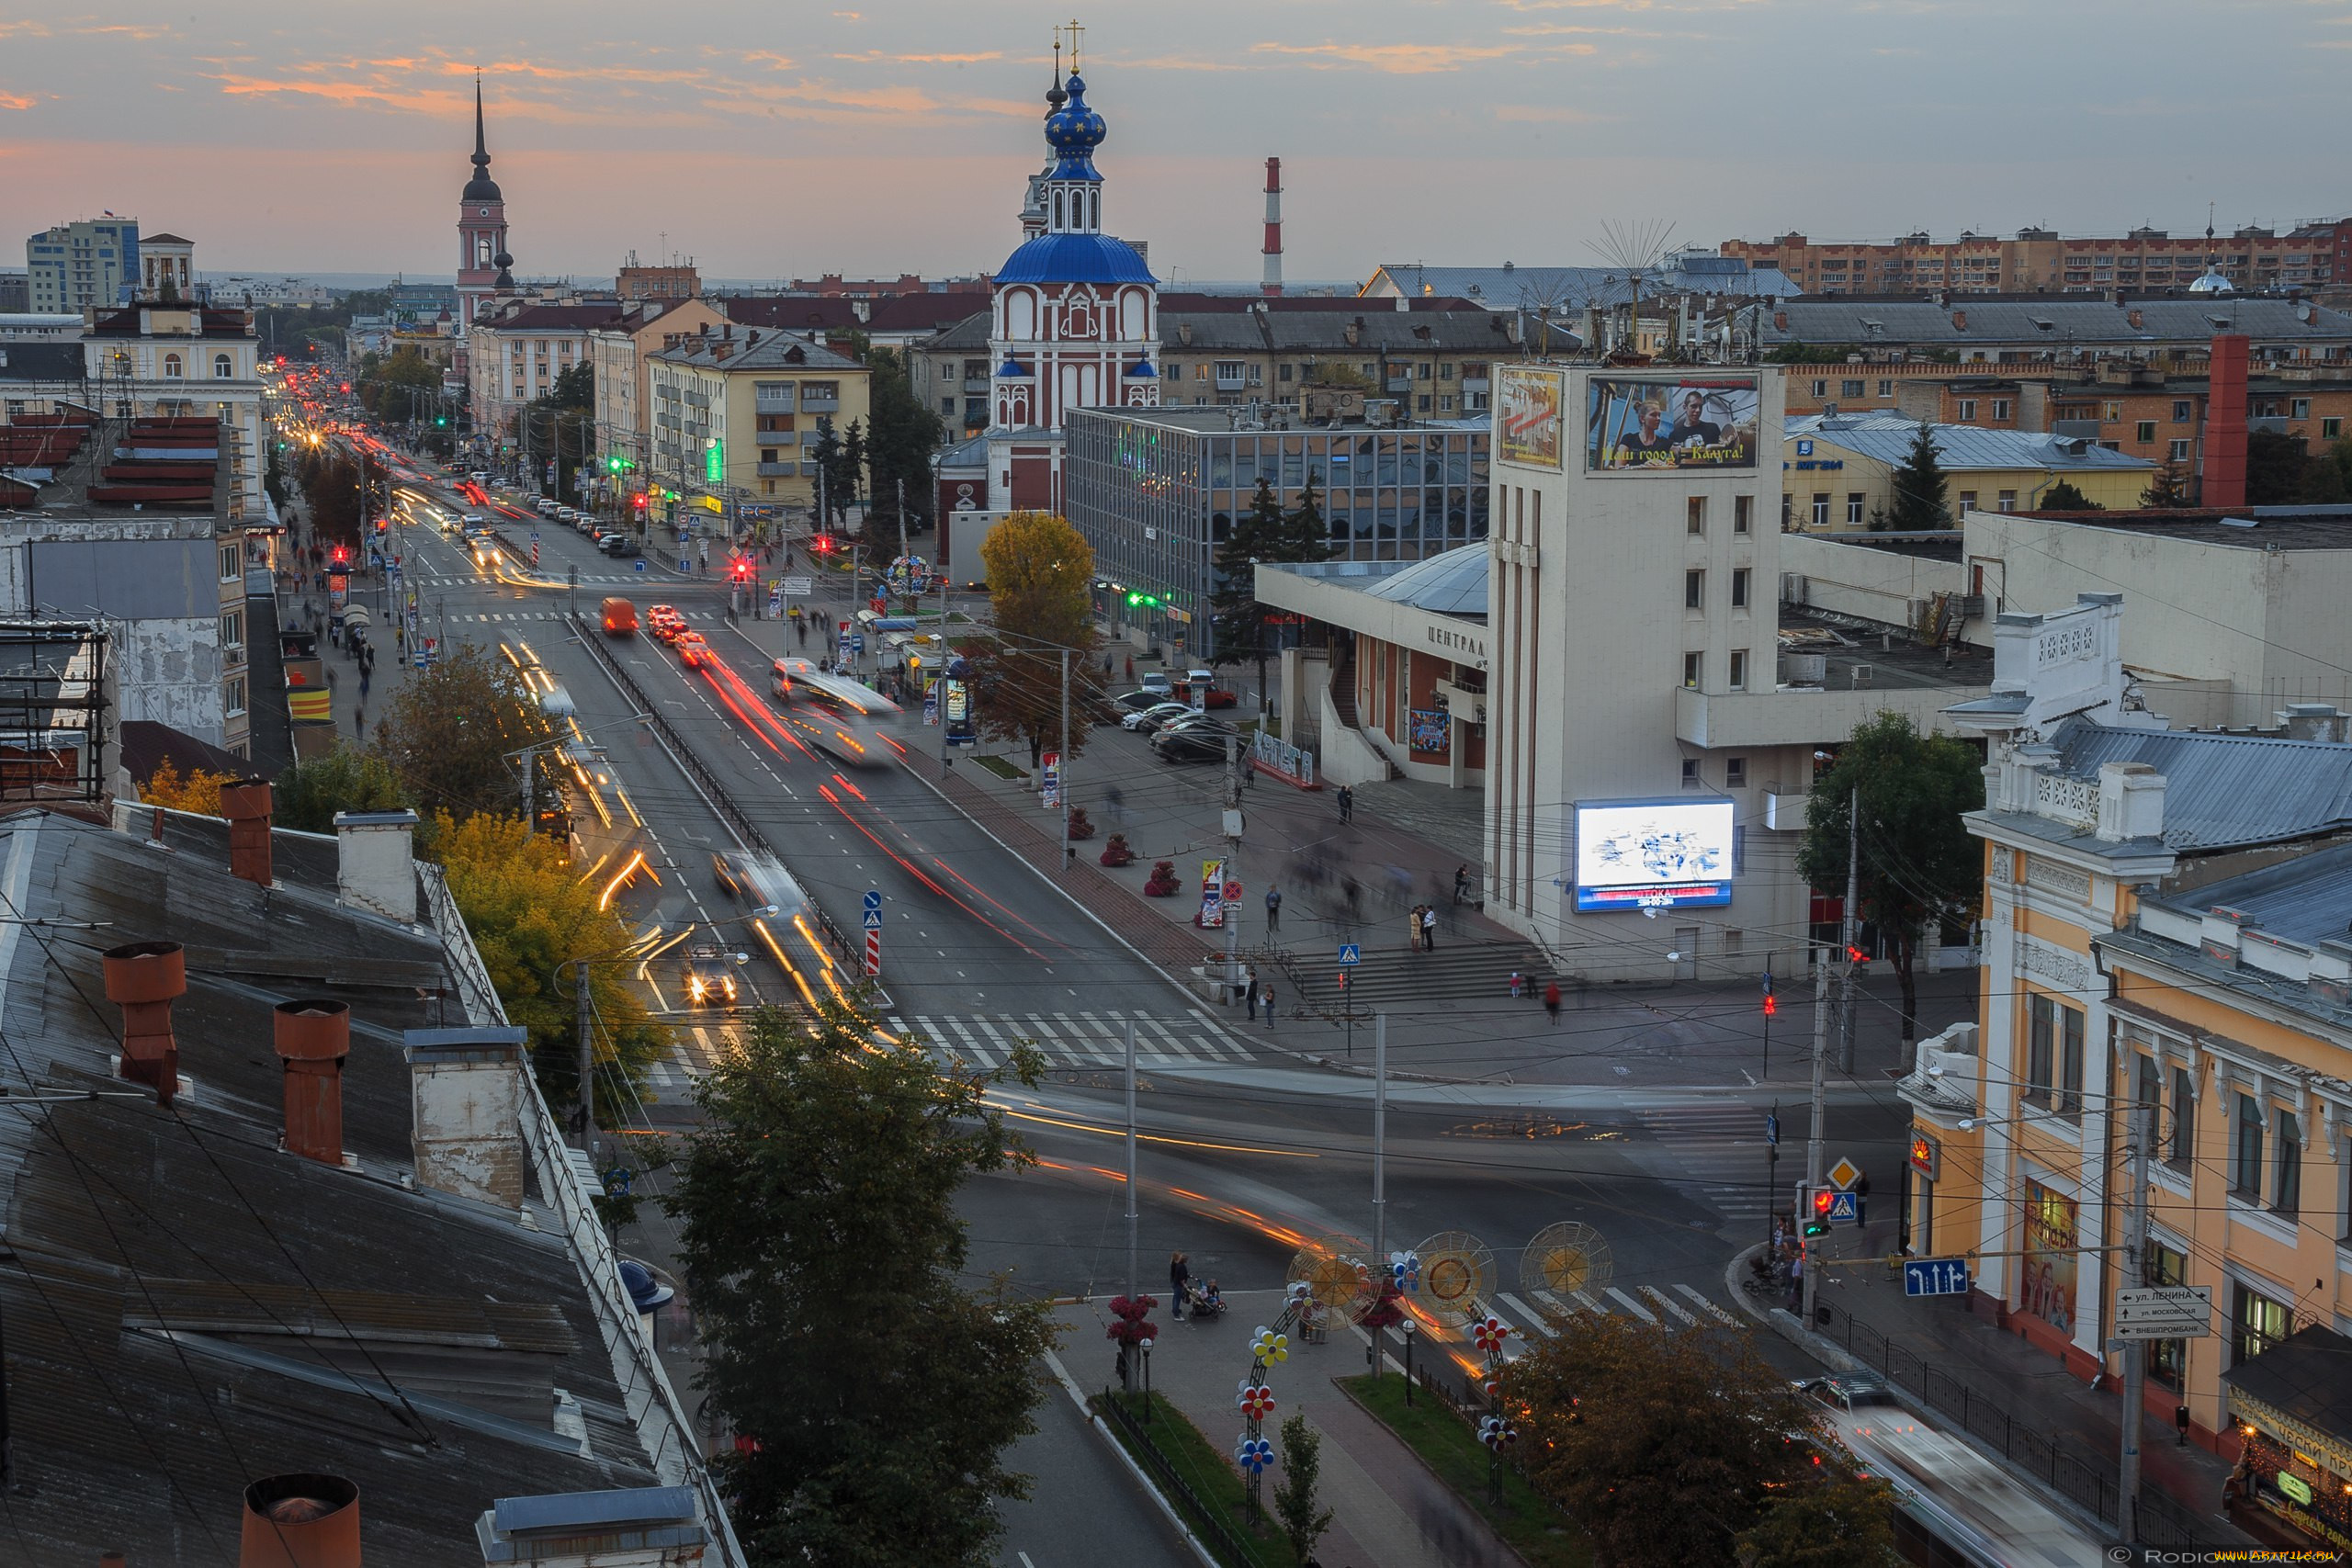
M 1780 527 L 1867 529 L 1893 512 L 1893 475 L 1919 440 L 1919 421 L 1898 414 L 1811 414 L 1783 425 Z M 2065 480 L 2093 505 L 2133 510 L 2154 463 L 2091 440 L 1980 425 L 1929 425 L 1943 465 L 1947 527 L 1959 515 L 2030 512 Z

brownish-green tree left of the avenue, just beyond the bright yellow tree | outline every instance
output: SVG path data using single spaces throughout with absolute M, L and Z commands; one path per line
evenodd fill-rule
M 513 665 L 461 642 L 400 684 L 372 750 L 421 811 L 520 816 L 522 776 L 508 757 L 553 733 Z

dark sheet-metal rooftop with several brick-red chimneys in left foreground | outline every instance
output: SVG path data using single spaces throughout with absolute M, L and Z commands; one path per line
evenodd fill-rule
M 0 1556 L 741 1561 L 414 816 L 223 811 L 0 818 Z

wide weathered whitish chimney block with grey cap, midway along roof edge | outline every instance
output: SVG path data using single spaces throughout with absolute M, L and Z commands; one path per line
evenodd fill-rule
M 522 1208 L 522 1046 L 527 1030 L 407 1030 L 416 1185 Z

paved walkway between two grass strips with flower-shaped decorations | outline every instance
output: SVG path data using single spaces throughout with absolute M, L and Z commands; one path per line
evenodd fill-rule
M 1232 1453 L 1242 1436 L 1235 1394 L 1249 1373 L 1249 1340 L 1258 1324 L 1282 1309 L 1282 1291 L 1228 1291 L 1223 1319 L 1171 1321 L 1167 1302 L 1152 1309 L 1160 1342 L 1152 1347 L 1152 1392 L 1164 1394 L 1200 1427 L 1216 1453 Z M 1115 1387 L 1117 1347 L 1105 1338 L 1110 1312 L 1103 1302 L 1073 1302 L 1056 1312 L 1070 1328 L 1061 1345 L 1063 1366 L 1089 1394 Z M 1395 1342 L 1390 1345 L 1395 1349 Z M 1279 1427 L 1305 1415 L 1322 1432 L 1322 1502 L 1331 1509 L 1329 1535 L 1315 1549 L 1324 1568 L 1454 1568 L 1456 1563 L 1519 1563 L 1479 1514 L 1461 1505 L 1411 1448 L 1355 1401 L 1331 1387 L 1334 1378 L 1367 1371 L 1367 1347 L 1355 1331 L 1338 1328 L 1327 1345 L 1303 1345 L 1291 1335 L 1291 1359 L 1268 1368 L 1275 1410 L 1261 1422 L 1275 1439 L 1277 1465 L 1265 1472 L 1265 1497 L 1279 1483 Z M 1402 1375 L 1395 1361 L 1390 1375 Z

